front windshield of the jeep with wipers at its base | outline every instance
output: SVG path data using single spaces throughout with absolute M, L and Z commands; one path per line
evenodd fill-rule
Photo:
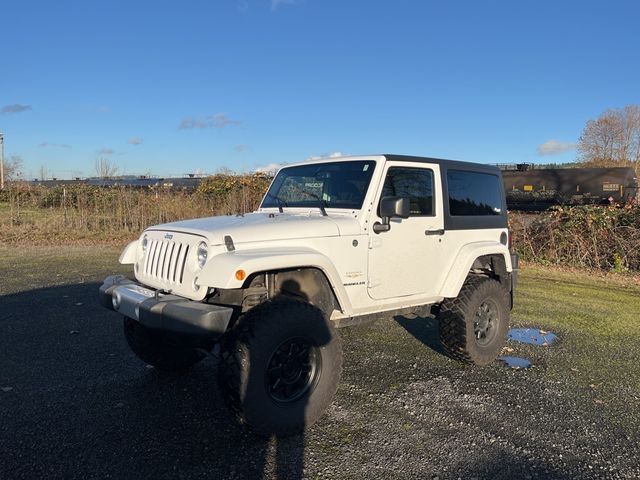
M 280 170 L 262 202 L 269 207 L 360 209 L 376 162 L 312 163 Z

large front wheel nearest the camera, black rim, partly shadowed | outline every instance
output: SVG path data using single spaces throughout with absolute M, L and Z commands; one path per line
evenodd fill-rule
M 302 432 L 333 401 L 342 346 L 322 311 L 278 299 L 247 312 L 221 344 L 220 385 L 241 423 L 260 435 Z

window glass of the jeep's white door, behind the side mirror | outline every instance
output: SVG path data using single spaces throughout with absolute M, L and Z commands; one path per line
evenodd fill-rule
M 433 171 L 426 168 L 391 167 L 382 196 L 409 197 L 411 216 L 433 216 Z

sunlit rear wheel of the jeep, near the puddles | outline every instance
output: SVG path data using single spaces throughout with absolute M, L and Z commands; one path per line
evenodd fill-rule
M 445 299 L 440 341 L 450 357 L 487 365 L 504 346 L 509 329 L 509 293 L 489 277 L 470 276 L 456 298 Z

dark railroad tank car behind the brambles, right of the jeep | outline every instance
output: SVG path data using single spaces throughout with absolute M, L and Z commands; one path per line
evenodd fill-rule
M 502 172 L 510 210 L 554 205 L 626 204 L 637 200 L 633 168 L 523 168 Z

